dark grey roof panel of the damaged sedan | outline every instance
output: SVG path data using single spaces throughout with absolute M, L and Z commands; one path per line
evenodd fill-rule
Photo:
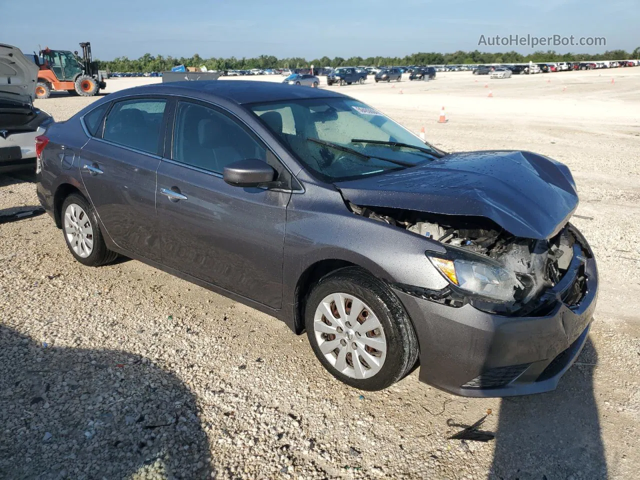
M 174 94 L 202 99 L 215 97 L 230 100 L 237 104 L 273 102 L 278 100 L 345 98 L 342 93 L 330 92 L 319 88 L 291 88 L 280 82 L 252 80 L 199 80 L 156 83 L 120 90 L 112 93 L 114 97 L 134 94 Z M 109 95 L 109 97 L 111 97 Z M 112 97 L 113 98 L 113 97 Z

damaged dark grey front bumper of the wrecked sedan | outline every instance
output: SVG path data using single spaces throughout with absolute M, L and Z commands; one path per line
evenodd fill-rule
M 579 257 L 545 293 L 555 305 L 544 316 L 500 316 L 470 304 L 454 308 L 396 289 L 418 337 L 420 381 L 467 397 L 554 390 L 586 342 L 598 296 L 595 259 L 584 238 L 579 241 L 589 257 Z M 584 294 L 567 305 L 562 299 L 582 274 Z

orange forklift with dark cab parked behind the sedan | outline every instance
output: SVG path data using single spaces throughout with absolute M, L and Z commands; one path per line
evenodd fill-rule
M 83 42 L 80 47 L 82 58 L 77 51 L 51 50 L 49 47 L 40 51 L 36 98 L 48 99 L 52 91 L 61 90 L 71 95 L 93 97 L 107 87 L 107 72 L 98 70 L 97 63 L 92 61 L 91 44 Z

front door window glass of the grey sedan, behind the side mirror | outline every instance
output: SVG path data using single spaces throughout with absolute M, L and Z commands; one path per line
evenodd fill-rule
M 235 120 L 220 111 L 179 102 L 173 127 L 173 160 L 223 173 L 238 160 L 267 160 L 266 150 Z

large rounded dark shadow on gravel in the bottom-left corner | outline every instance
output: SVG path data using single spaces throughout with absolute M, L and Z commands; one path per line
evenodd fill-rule
M 3 324 L 0 428 L 2 479 L 211 476 L 195 397 L 174 374 L 139 355 L 49 346 Z

